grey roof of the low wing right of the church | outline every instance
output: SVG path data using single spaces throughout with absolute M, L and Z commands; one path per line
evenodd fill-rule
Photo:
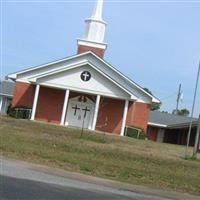
M 160 112 L 160 111 L 150 111 L 148 125 L 163 127 L 163 128 L 176 128 L 188 126 L 190 124 L 191 118 L 186 116 L 174 115 L 170 113 Z M 197 124 L 198 119 L 192 118 L 192 121 Z

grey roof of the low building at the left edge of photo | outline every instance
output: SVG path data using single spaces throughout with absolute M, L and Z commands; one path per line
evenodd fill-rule
M 0 95 L 13 96 L 15 83 L 11 81 L 0 81 Z

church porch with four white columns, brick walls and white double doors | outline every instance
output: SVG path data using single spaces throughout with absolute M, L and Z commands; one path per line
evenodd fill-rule
M 53 96 L 49 97 L 47 93 L 53 94 Z M 56 96 L 57 98 L 55 98 Z M 61 99 L 63 100 L 62 103 Z M 45 102 L 46 108 L 44 108 L 45 105 L 43 102 Z M 54 108 L 49 105 L 53 105 Z M 100 131 L 109 131 L 109 127 L 111 128 L 115 125 L 116 127 L 111 129 L 115 129 L 114 132 L 123 136 L 128 105 L 128 99 L 116 99 L 100 94 L 80 93 L 79 91 L 72 91 L 70 89 L 50 88 L 37 84 L 31 120 L 56 122 L 63 126 Z M 105 109 L 109 109 L 111 113 L 104 113 Z

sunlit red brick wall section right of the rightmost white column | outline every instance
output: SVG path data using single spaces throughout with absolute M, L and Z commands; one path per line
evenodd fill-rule
M 126 125 L 135 126 L 147 130 L 150 104 L 129 102 Z

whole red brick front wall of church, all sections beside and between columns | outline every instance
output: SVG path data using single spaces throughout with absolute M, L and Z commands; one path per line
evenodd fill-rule
M 25 106 L 32 108 L 35 94 L 35 85 L 16 82 L 12 106 Z M 76 96 L 70 93 L 70 98 Z M 60 123 L 65 91 L 52 88 L 40 88 L 36 120 Z M 88 96 L 89 97 L 89 96 Z M 95 101 L 94 96 L 90 99 Z M 129 102 L 129 109 L 126 124 L 147 129 L 150 105 L 138 102 Z M 97 130 L 120 134 L 124 101 L 101 98 L 100 109 L 97 119 Z M 105 125 L 107 119 L 107 125 Z

